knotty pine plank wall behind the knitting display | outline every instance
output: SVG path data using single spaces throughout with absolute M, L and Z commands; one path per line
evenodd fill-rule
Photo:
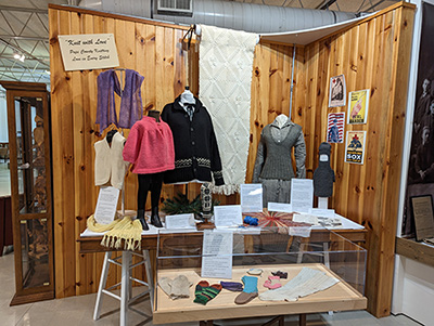
M 97 76 L 102 70 L 64 71 L 58 35 L 113 32 L 120 67 L 144 76 L 144 109 L 161 110 L 173 102 L 183 91 L 187 75 L 196 93 L 199 56 L 190 51 L 187 71 L 179 44 L 186 29 L 177 25 L 59 5 L 50 5 L 49 17 L 55 290 L 63 298 L 98 288 L 103 255 L 80 255 L 76 239 L 94 210 L 93 143 L 105 134 L 100 135 L 94 125 Z M 330 77 L 344 74 L 347 92 L 371 91 L 368 123 L 346 126 L 346 130 L 367 131 L 365 165 L 345 164 L 344 145 L 332 145 L 336 182 L 329 203 L 369 231 L 366 295 L 376 316 L 388 315 L 391 307 L 412 21 L 413 6 L 398 3 L 344 31 L 296 48 L 292 120 L 305 133 L 307 178 L 317 167 L 328 114 L 346 110 L 328 108 Z M 260 130 L 279 114 L 289 115 L 292 53 L 293 47 L 285 44 L 261 42 L 256 47 L 246 182 L 252 180 Z M 128 175 L 127 209 L 136 209 L 136 178 Z M 177 192 L 186 188 L 165 185 L 162 200 Z M 197 185 L 189 185 L 188 193 L 190 198 L 197 195 Z M 218 199 L 239 203 L 238 195 Z M 112 270 L 108 283 L 114 284 L 119 275 L 119 270 Z

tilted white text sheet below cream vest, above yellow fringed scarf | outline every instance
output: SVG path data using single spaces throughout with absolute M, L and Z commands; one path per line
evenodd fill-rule
M 115 219 L 117 199 L 119 198 L 119 190 L 114 186 L 100 187 L 98 195 L 97 208 L 93 214 L 95 221 L 100 224 L 110 224 Z

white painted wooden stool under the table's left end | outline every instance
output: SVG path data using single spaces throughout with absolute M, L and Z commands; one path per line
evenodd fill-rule
M 154 302 L 154 278 L 152 275 L 152 269 L 151 269 L 151 260 L 150 260 L 150 255 L 149 250 L 143 250 L 143 255 L 139 255 L 133 251 L 123 251 L 122 256 L 116 257 L 112 259 L 112 251 L 105 252 L 104 256 L 104 263 L 102 265 L 102 272 L 101 272 L 101 279 L 100 279 L 100 286 L 98 288 L 98 295 L 97 295 L 97 302 L 95 302 L 95 308 L 93 311 L 93 320 L 98 321 L 100 318 L 100 311 L 101 311 L 101 305 L 102 305 L 102 299 L 103 299 L 103 294 L 108 295 L 117 300 L 120 301 L 120 326 L 127 326 L 128 325 L 128 309 L 137 312 L 138 314 L 141 314 L 145 317 L 150 317 L 149 315 L 144 314 L 143 312 L 136 310 L 131 307 L 129 307 L 133 301 L 137 299 L 150 295 L 150 301 L 151 301 L 151 311 L 153 308 L 153 302 Z M 141 262 L 138 262 L 133 265 L 131 265 L 131 257 L 132 255 L 142 257 L 143 260 Z M 118 260 L 122 258 L 122 262 L 118 262 Z M 115 265 L 118 265 L 122 268 L 122 279 L 119 283 L 111 286 L 110 288 L 105 288 L 106 282 L 107 282 L 107 275 L 108 275 L 108 263 L 113 263 Z M 141 264 L 144 264 L 144 270 L 146 272 L 146 277 L 148 277 L 148 283 L 143 282 L 141 279 L 137 279 L 135 277 L 130 276 L 130 270 L 133 268 L 137 268 Z M 136 297 L 132 297 L 132 281 L 148 286 L 148 289 Z M 116 288 L 120 284 L 120 296 L 117 296 L 113 294 L 111 290 Z

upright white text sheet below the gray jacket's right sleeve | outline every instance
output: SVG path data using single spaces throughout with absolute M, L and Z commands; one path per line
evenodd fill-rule
M 294 211 L 310 213 L 314 206 L 311 179 L 291 179 L 291 204 Z

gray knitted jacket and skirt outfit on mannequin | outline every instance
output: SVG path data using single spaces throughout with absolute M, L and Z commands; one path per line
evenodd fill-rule
M 292 167 L 294 147 L 296 173 Z M 253 170 L 253 183 L 263 184 L 263 205 L 290 203 L 291 179 L 306 178 L 306 145 L 302 127 L 288 120 L 282 128 L 275 120 L 264 127 Z

